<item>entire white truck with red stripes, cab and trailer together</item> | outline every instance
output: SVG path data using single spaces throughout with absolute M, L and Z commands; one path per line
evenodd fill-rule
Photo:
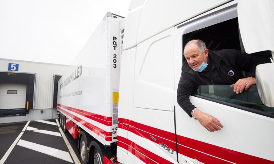
M 107 13 L 58 83 L 60 123 L 79 140 L 81 163 L 273 164 L 274 63 L 258 65 L 257 87 L 242 94 L 226 85 L 193 91 L 191 103 L 221 120 L 221 131 L 177 103 L 187 41 L 273 59 L 273 8 L 271 0 L 132 0 L 127 18 Z

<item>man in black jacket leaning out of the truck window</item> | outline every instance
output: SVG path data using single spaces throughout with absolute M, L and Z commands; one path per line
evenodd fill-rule
M 235 49 L 208 50 L 202 40 L 191 40 L 185 45 L 186 62 L 182 67 L 177 89 L 177 102 L 190 117 L 198 120 L 209 132 L 221 130 L 220 120 L 200 111 L 189 101 L 189 95 L 199 85 L 231 85 L 236 94 L 256 85 L 255 70 L 258 64 L 270 59 L 245 56 Z M 231 71 L 229 73 L 229 71 Z M 249 71 L 245 78 L 243 71 Z

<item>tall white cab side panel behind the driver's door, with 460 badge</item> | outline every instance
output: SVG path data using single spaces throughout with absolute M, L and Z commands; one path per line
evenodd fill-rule
M 173 35 L 172 27 L 137 45 L 134 82 L 135 163 L 177 163 Z

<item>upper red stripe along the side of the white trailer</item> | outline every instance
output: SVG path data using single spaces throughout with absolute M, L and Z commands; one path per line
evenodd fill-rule
M 108 126 L 111 126 L 112 117 L 102 116 L 102 115 L 99 115 L 99 114 L 87 112 L 85 110 L 81 110 L 81 109 L 77 109 L 77 108 L 73 108 L 73 107 L 65 106 L 65 105 L 61 105 L 61 104 L 57 104 L 57 106 L 63 107 L 65 109 L 67 109 L 67 110 L 70 110 L 72 112 L 75 112 L 77 114 L 85 116 L 85 117 L 87 117 L 89 119 L 95 120 L 97 122 L 100 122 L 100 123 L 103 122 L 102 124 L 107 124 Z

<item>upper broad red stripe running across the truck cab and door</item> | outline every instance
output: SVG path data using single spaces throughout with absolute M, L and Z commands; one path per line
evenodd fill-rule
M 150 135 L 157 138 L 157 143 L 168 143 L 174 151 L 175 134 L 151 126 L 140 124 L 132 120 L 118 118 L 118 128 L 133 132 L 134 134 L 155 142 Z M 161 138 L 159 138 L 159 137 Z M 160 141 L 161 140 L 161 141 Z M 174 144 L 173 144 L 174 143 Z M 193 140 L 184 136 L 177 135 L 178 153 L 187 157 L 197 159 L 203 163 L 267 163 L 274 164 L 274 161 L 255 157 L 238 151 L 226 149 L 216 145 L 208 144 L 198 140 Z M 135 144 L 136 145 L 136 144 Z M 136 146 L 135 146 L 136 148 Z M 136 151 L 135 151 L 136 154 Z M 220 159 L 219 159 L 220 158 Z M 228 162 L 229 161 L 229 162 Z

